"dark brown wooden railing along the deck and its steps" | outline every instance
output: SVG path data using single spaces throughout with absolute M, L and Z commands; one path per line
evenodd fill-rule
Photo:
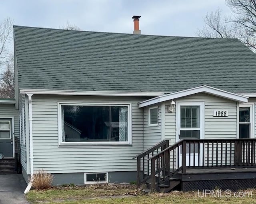
M 150 179 L 151 188 L 156 189 L 175 174 L 185 174 L 187 169 L 256 167 L 256 139 L 183 139 L 167 145 L 169 141 L 164 140 L 136 156 L 138 188 Z M 149 152 L 159 147 L 162 151 L 149 157 Z

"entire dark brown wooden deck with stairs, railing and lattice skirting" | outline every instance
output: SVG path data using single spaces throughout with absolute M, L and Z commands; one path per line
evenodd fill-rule
M 255 185 L 256 139 L 182 139 L 169 144 L 163 140 L 133 157 L 137 159 L 137 188 L 170 192 Z

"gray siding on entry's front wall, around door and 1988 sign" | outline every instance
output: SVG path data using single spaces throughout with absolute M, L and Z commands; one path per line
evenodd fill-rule
M 178 98 L 176 102 L 204 102 L 204 138 L 236 138 L 237 103 L 208 94 L 194 94 Z M 176 110 L 167 112 L 166 102 L 165 139 L 176 141 Z M 213 117 L 213 110 L 228 110 L 228 117 Z

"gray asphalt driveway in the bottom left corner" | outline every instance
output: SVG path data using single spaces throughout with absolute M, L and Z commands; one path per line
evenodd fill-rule
M 0 204 L 28 204 L 24 197 L 26 186 L 21 174 L 0 175 Z

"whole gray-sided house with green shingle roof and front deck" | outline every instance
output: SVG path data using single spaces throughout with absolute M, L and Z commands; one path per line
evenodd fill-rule
M 18 138 L 24 178 L 250 187 L 256 55 L 238 39 L 141 35 L 138 22 L 134 34 L 14 26 L 0 136 Z

